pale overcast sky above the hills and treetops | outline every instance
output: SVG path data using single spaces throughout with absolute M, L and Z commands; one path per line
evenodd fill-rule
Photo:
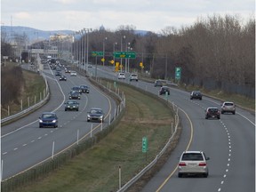
M 1 25 L 41 30 L 116 30 L 132 25 L 159 32 L 213 14 L 254 18 L 254 0 L 1 0 Z

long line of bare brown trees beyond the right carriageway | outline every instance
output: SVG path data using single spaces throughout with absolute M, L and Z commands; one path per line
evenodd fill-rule
M 142 62 L 144 72 L 148 71 L 153 78 L 174 79 L 175 68 L 180 67 L 181 83 L 204 86 L 205 82 L 214 82 L 217 89 L 223 89 L 225 83 L 225 87 L 244 85 L 255 90 L 253 17 L 244 23 L 239 15 L 213 15 L 198 18 L 188 27 L 166 27 L 159 33 L 145 35 L 136 33 L 132 25 L 119 26 L 115 31 L 101 27 L 88 36 L 89 52 L 103 51 L 104 46 L 105 64 L 113 60 L 114 49 L 131 51 L 136 52 L 137 57 L 129 60 L 130 68 L 140 70 Z M 77 44 L 80 46 L 80 55 L 84 40 L 85 33 L 76 36 L 75 43 L 71 44 L 73 50 Z M 39 45 L 44 48 L 42 43 L 36 47 Z M 60 46 L 69 49 L 70 44 L 62 42 Z M 93 63 L 95 58 L 90 54 L 89 60 Z

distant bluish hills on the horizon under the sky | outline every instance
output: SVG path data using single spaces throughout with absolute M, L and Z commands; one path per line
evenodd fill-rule
M 72 35 L 76 31 L 72 30 L 52 30 L 52 31 L 44 31 L 36 28 L 28 28 L 22 26 L 1 26 L 1 31 L 4 32 L 8 39 L 12 39 L 13 36 L 19 35 L 28 36 L 29 43 L 35 42 L 38 40 L 49 40 L 50 36 L 61 34 L 61 35 Z M 145 30 L 135 30 L 135 34 L 145 36 L 148 31 Z

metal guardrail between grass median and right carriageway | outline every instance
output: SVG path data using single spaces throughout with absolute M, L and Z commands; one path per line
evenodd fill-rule
M 173 107 L 174 104 L 172 103 Z M 166 150 L 166 148 L 169 147 L 173 137 L 175 136 L 176 132 L 177 132 L 177 128 L 178 128 L 178 124 L 179 124 L 179 116 L 178 116 L 178 108 L 177 108 L 177 122 L 175 124 L 175 131 L 172 133 L 172 137 L 168 140 L 168 142 L 165 144 L 164 148 L 159 152 L 159 154 L 156 156 L 156 158 L 149 163 L 144 169 L 142 169 L 137 175 L 135 175 L 131 180 L 129 180 L 127 183 L 124 184 L 124 186 L 122 188 L 119 188 L 117 190 L 117 192 L 123 192 L 125 190 L 127 190 L 128 188 L 130 188 L 132 186 L 132 184 L 134 184 L 137 180 L 140 179 L 141 176 L 143 176 L 146 172 L 148 172 L 148 170 L 150 170 L 158 161 L 158 159 L 164 154 L 164 151 Z M 176 117 L 175 117 L 176 118 Z

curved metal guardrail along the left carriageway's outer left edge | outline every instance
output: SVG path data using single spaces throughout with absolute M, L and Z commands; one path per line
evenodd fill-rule
M 44 76 L 44 75 L 43 75 L 43 76 Z M 15 118 L 18 118 L 19 116 L 24 116 L 25 114 L 27 114 L 28 112 L 34 110 L 35 108 L 41 107 L 41 106 L 44 104 L 44 102 L 45 102 L 46 100 L 48 100 L 49 97 L 50 97 L 49 87 L 48 87 L 48 83 L 47 83 L 47 81 L 46 81 L 45 76 L 44 76 L 44 82 L 45 82 L 45 84 L 46 84 L 46 92 L 47 92 L 47 95 L 46 95 L 46 97 L 44 98 L 44 100 L 41 100 L 41 101 L 37 102 L 35 105 L 33 105 L 33 106 L 29 107 L 29 108 L 26 108 L 26 109 L 20 111 L 20 112 L 17 113 L 17 114 L 14 114 L 14 115 L 12 115 L 12 116 L 7 116 L 7 117 L 1 119 L 1 124 L 4 124 L 4 123 L 6 123 L 6 122 L 8 122 L 8 121 L 11 121 L 11 120 L 13 120 L 13 119 L 15 119 Z

